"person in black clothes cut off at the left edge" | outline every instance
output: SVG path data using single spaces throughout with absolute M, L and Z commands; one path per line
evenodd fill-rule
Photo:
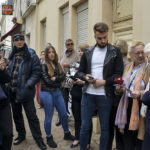
M 9 75 L 6 72 L 4 59 L 0 59 L 0 150 L 11 150 L 13 129 L 11 109 L 8 95 L 6 94 L 5 83 L 9 82 Z M 2 94 L 5 93 L 5 96 Z

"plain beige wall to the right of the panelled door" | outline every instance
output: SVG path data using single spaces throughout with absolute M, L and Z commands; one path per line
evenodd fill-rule
M 150 42 L 150 1 L 133 0 L 133 39 Z

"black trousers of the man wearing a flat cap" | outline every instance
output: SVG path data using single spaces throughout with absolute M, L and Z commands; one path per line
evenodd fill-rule
M 41 129 L 33 100 L 24 103 L 12 103 L 13 118 L 18 135 L 26 135 L 24 119 L 22 115 L 22 106 L 25 110 L 32 136 L 35 140 L 41 140 Z

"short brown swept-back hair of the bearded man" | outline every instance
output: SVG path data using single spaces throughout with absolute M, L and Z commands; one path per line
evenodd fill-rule
M 94 30 L 94 33 L 95 32 L 105 33 L 105 32 L 108 32 L 109 28 L 106 23 L 98 22 L 94 25 L 93 30 Z

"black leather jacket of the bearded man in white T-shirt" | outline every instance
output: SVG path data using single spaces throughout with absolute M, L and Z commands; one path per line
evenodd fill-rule
M 91 74 L 91 60 L 95 46 L 89 47 L 84 52 L 78 71 L 78 76 L 82 80 L 85 80 L 86 74 Z M 122 76 L 124 70 L 123 59 L 120 53 L 119 48 L 112 46 L 111 44 L 107 45 L 107 53 L 104 59 L 103 67 L 103 78 L 106 80 L 105 92 L 109 97 L 114 96 L 114 79 L 118 76 Z M 85 84 L 83 92 L 86 91 L 88 83 Z

